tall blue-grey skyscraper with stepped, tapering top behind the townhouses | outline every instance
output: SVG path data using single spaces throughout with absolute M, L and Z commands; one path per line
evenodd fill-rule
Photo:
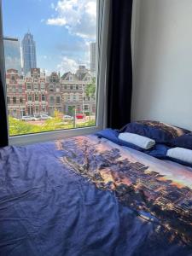
M 37 67 L 36 45 L 30 32 L 27 32 L 22 40 L 22 58 L 25 74 L 30 72 L 31 68 Z

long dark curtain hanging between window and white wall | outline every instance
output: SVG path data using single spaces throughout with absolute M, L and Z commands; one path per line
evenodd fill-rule
M 132 0 L 112 0 L 108 65 L 108 127 L 119 129 L 131 120 Z

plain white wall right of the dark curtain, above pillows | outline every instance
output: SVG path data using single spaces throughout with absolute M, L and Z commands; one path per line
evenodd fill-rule
M 192 0 L 134 1 L 132 119 L 192 130 Z

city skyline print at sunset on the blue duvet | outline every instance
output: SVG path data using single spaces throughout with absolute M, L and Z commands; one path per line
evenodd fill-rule
M 93 136 L 56 143 L 61 163 L 98 189 L 115 193 L 171 242 L 192 242 L 192 172 Z

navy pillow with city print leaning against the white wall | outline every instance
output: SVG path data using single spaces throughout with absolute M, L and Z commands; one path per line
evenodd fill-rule
M 137 133 L 154 139 L 156 143 L 171 143 L 173 138 L 182 136 L 190 131 L 158 121 L 143 120 L 125 125 L 120 132 Z

